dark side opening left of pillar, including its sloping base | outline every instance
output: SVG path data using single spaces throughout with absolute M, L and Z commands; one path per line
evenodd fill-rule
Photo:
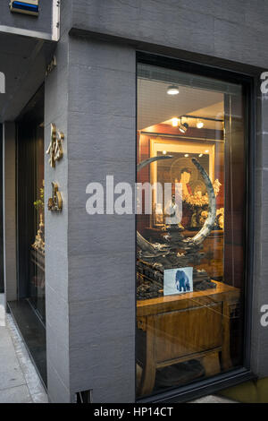
M 44 87 L 16 122 L 18 299 L 8 303 L 46 384 Z

